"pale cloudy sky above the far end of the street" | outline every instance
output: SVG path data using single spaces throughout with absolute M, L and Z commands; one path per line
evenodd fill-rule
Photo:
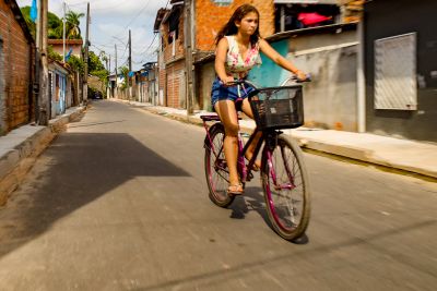
M 32 0 L 16 0 L 16 2 L 20 7 L 25 7 L 31 5 Z M 132 36 L 132 70 L 140 70 L 147 61 L 156 61 L 158 37 L 154 37 L 153 24 L 158 9 L 165 8 L 168 0 L 48 0 L 49 11 L 62 17 L 63 2 L 67 3 L 67 11 L 84 14 L 86 14 L 86 3 L 90 2 L 90 50 L 97 54 L 102 50 L 110 54 L 113 72 L 114 45 L 117 45 L 118 66 L 127 65 L 129 29 Z M 81 19 L 83 38 L 85 38 L 85 23 L 84 16 Z

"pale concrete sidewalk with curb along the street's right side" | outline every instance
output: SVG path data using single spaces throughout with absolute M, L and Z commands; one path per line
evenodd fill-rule
M 202 124 L 200 116 L 209 113 L 196 112 L 193 116 L 187 117 L 186 110 L 133 101 L 123 102 L 194 124 Z M 240 126 L 243 131 L 251 131 L 255 128 L 255 122 L 252 120 L 241 120 Z M 296 138 L 305 148 L 437 178 L 437 144 L 368 133 L 307 128 L 298 128 L 285 132 Z

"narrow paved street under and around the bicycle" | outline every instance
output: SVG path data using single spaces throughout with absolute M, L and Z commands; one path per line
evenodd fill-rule
M 265 222 L 258 175 L 208 198 L 204 130 L 94 101 L 0 208 L 0 290 L 435 290 L 437 185 L 306 154 L 307 241 Z

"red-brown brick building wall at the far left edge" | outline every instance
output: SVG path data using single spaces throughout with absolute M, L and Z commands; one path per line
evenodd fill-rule
M 33 119 L 34 39 L 15 0 L 0 0 L 0 135 Z

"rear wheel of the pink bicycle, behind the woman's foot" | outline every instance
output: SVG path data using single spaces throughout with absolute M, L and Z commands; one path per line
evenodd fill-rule
M 204 170 L 210 190 L 209 197 L 215 205 L 227 207 L 234 202 L 235 196 L 227 194 L 229 172 L 223 149 L 225 130 L 223 124 L 215 123 L 209 132 L 212 144 L 206 136 L 204 156 Z

